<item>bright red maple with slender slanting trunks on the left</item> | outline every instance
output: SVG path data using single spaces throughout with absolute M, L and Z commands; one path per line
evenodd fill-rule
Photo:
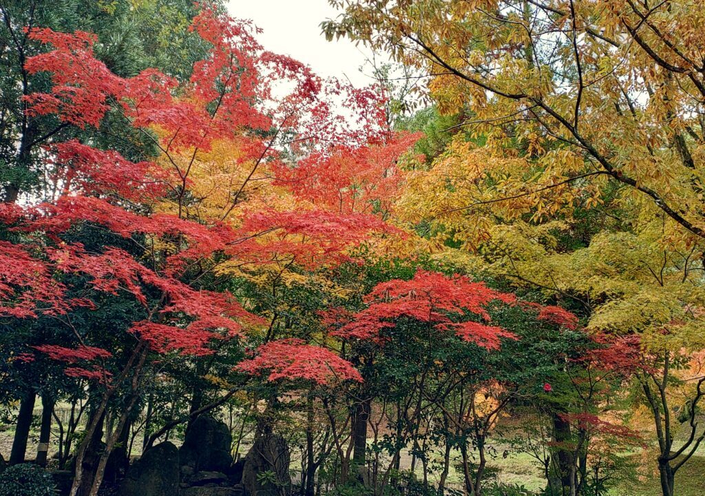
M 367 193 L 362 202 L 385 198 L 396 181 L 389 179 L 395 157 L 411 141 L 392 138 L 381 128 L 384 105 L 374 89 L 321 80 L 298 61 L 266 52 L 251 23 L 203 6 L 192 30 L 211 48 L 183 83 L 154 69 L 133 78 L 111 73 L 95 56 L 97 38 L 90 33 L 27 31 L 28 37 L 49 50 L 27 59 L 25 68 L 32 74 L 47 73 L 51 80 L 49 90 L 25 98 L 28 114 L 54 114 L 65 123 L 87 128 L 99 126 L 106 112 L 115 109 L 125 126 L 144 131 L 161 155 L 159 161 L 135 163 L 114 150 L 98 150 L 77 140 L 59 143 L 47 148 L 54 184 L 47 195 L 51 200 L 0 208 L 6 230 L 17 234 L 16 242 L 0 241 L 0 314 L 66 315 L 77 306 L 99 305 L 100 298 L 92 295 L 120 294 L 133 298 L 145 315 L 137 322 L 125 322 L 125 336 L 137 339 L 126 341 L 133 344 L 121 353 L 95 346 L 80 332 L 73 344 L 35 348 L 66 363 L 67 375 L 102 385 L 102 397 L 78 449 L 72 496 L 82 485 L 82 457 L 98 419 L 125 384 L 130 397 L 137 398 L 148 356 L 214 353 L 213 341 L 245 337 L 247 329 L 262 322 L 231 294 L 208 291 L 186 278 L 190 267 L 214 255 L 250 264 L 285 258 L 310 267 L 337 263 L 370 234 L 390 230 L 369 207 L 339 208 L 328 200 L 318 201 L 329 196 L 328 186 L 318 189 L 316 198 L 310 194 L 305 198 L 313 209 L 281 211 L 263 206 L 240 214 L 238 222 L 226 222 L 247 181 L 264 163 L 278 174 L 280 186 L 286 183 L 301 196 L 308 194 L 302 184 L 319 163 L 344 153 L 357 159 L 360 167 L 338 168 L 338 193 L 345 183 L 364 183 Z M 286 84 L 289 91 L 275 97 L 274 84 Z M 336 110 L 334 102 L 339 98 L 349 99 L 359 116 L 350 126 L 348 117 Z M 276 140 L 285 134 L 295 137 L 287 145 L 298 155 L 300 171 L 283 165 L 282 143 Z M 238 160 L 255 164 L 255 169 L 233 195 L 223 217 L 191 219 L 185 202 L 195 158 L 223 140 L 237 143 L 242 152 Z M 386 151 L 365 152 L 367 145 Z M 301 171 L 308 175 L 300 176 Z M 176 198 L 178 211 L 155 213 L 152 207 L 166 196 Z M 168 248 L 152 248 L 152 256 L 145 258 L 122 245 L 88 249 L 70 235 L 82 226 L 110 231 L 139 247 L 137 251 L 145 251 L 140 240 Z M 70 290 L 87 297 L 68 298 Z M 289 353 L 298 358 L 291 361 Z M 331 379 L 331 371 L 343 379 L 359 378 L 335 353 L 303 342 L 266 344 L 258 358 L 248 363 L 243 370 L 267 368 L 275 378 L 285 370 L 288 377 L 318 383 Z M 131 401 L 114 432 L 135 405 Z M 91 495 L 97 494 L 116 442 L 113 434 L 106 433 L 107 446 Z

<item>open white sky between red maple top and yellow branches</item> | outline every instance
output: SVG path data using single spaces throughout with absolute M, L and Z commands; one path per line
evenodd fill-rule
M 306 63 L 318 75 L 347 76 L 358 87 L 374 83 L 358 70 L 370 53 L 367 49 L 343 39 L 326 42 L 321 35 L 321 21 L 336 17 L 326 0 L 230 0 L 228 12 L 262 28 L 259 42 L 265 49 Z

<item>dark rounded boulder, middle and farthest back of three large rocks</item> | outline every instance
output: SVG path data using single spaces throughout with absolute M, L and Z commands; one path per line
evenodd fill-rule
M 198 417 L 186 431 L 179 449 L 181 465 L 194 472 L 226 472 L 233 464 L 233 436 L 228 426 L 208 416 Z

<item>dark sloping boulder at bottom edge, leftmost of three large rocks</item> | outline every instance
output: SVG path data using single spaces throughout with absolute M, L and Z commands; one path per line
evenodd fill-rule
M 178 495 L 178 449 L 171 442 L 161 442 L 147 449 L 128 468 L 119 496 Z

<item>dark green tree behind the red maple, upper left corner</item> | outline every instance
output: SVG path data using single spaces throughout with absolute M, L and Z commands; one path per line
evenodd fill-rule
M 217 1 L 217 0 L 216 0 Z M 25 61 L 46 51 L 25 28 L 94 32 L 97 57 L 123 77 L 159 68 L 187 78 L 206 46 L 188 30 L 197 8 L 190 0 L 8 0 L 0 6 L 0 185 L 6 202 L 22 193 L 50 195 L 42 145 L 78 137 L 130 159 L 152 153 L 151 140 L 125 126 L 118 114 L 97 129 L 75 128 L 56 116 L 27 116 L 23 97 L 49 87 L 46 74 L 30 75 Z

